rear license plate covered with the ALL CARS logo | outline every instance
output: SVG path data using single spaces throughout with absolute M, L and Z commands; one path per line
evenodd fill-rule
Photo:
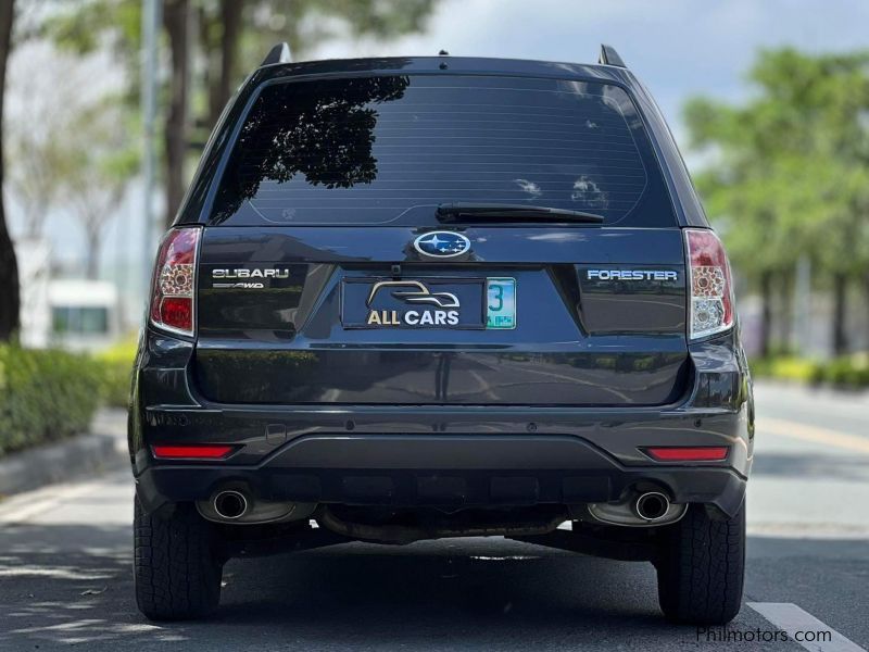
M 344 328 L 503 329 L 516 326 L 512 278 L 344 278 Z

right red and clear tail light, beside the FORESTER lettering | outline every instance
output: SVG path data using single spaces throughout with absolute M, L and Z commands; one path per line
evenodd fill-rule
M 721 241 L 708 229 L 685 229 L 691 308 L 689 334 L 698 339 L 733 326 L 733 284 Z

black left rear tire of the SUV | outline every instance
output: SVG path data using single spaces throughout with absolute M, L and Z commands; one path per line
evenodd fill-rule
M 134 507 L 136 603 L 152 620 L 200 618 L 221 601 L 223 563 L 216 537 L 191 504 L 171 515 Z

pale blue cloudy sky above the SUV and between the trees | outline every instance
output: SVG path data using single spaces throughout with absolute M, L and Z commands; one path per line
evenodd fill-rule
M 445 49 L 453 55 L 595 62 L 601 42 L 615 47 L 648 86 L 684 146 L 680 112 L 685 100 L 702 95 L 744 101 L 751 93 L 745 73 L 759 49 L 869 48 L 869 0 L 444 0 L 423 34 L 390 42 L 332 41 L 314 58 L 437 54 Z M 33 55 L 20 54 L 12 60 L 8 95 L 11 103 L 26 104 L 35 89 L 16 86 L 15 79 L 28 77 L 25 68 L 33 70 Z M 111 78 L 110 73 L 106 68 L 100 77 Z M 106 272 L 118 260 L 135 271 L 143 268 L 142 204 L 134 185 L 105 235 Z M 10 209 L 14 228 L 14 202 Z M 83 242 L 75 224 L 62 211 L 50 220 L 55 253 L 75 259 Z

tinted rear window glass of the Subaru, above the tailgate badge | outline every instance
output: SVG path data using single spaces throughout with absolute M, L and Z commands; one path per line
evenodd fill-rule
M 436 224 L 438 204 L 506 203 L 672 226 L 628 95 L 591 82 L 375 76 L 263 88 L 212 224 Z

